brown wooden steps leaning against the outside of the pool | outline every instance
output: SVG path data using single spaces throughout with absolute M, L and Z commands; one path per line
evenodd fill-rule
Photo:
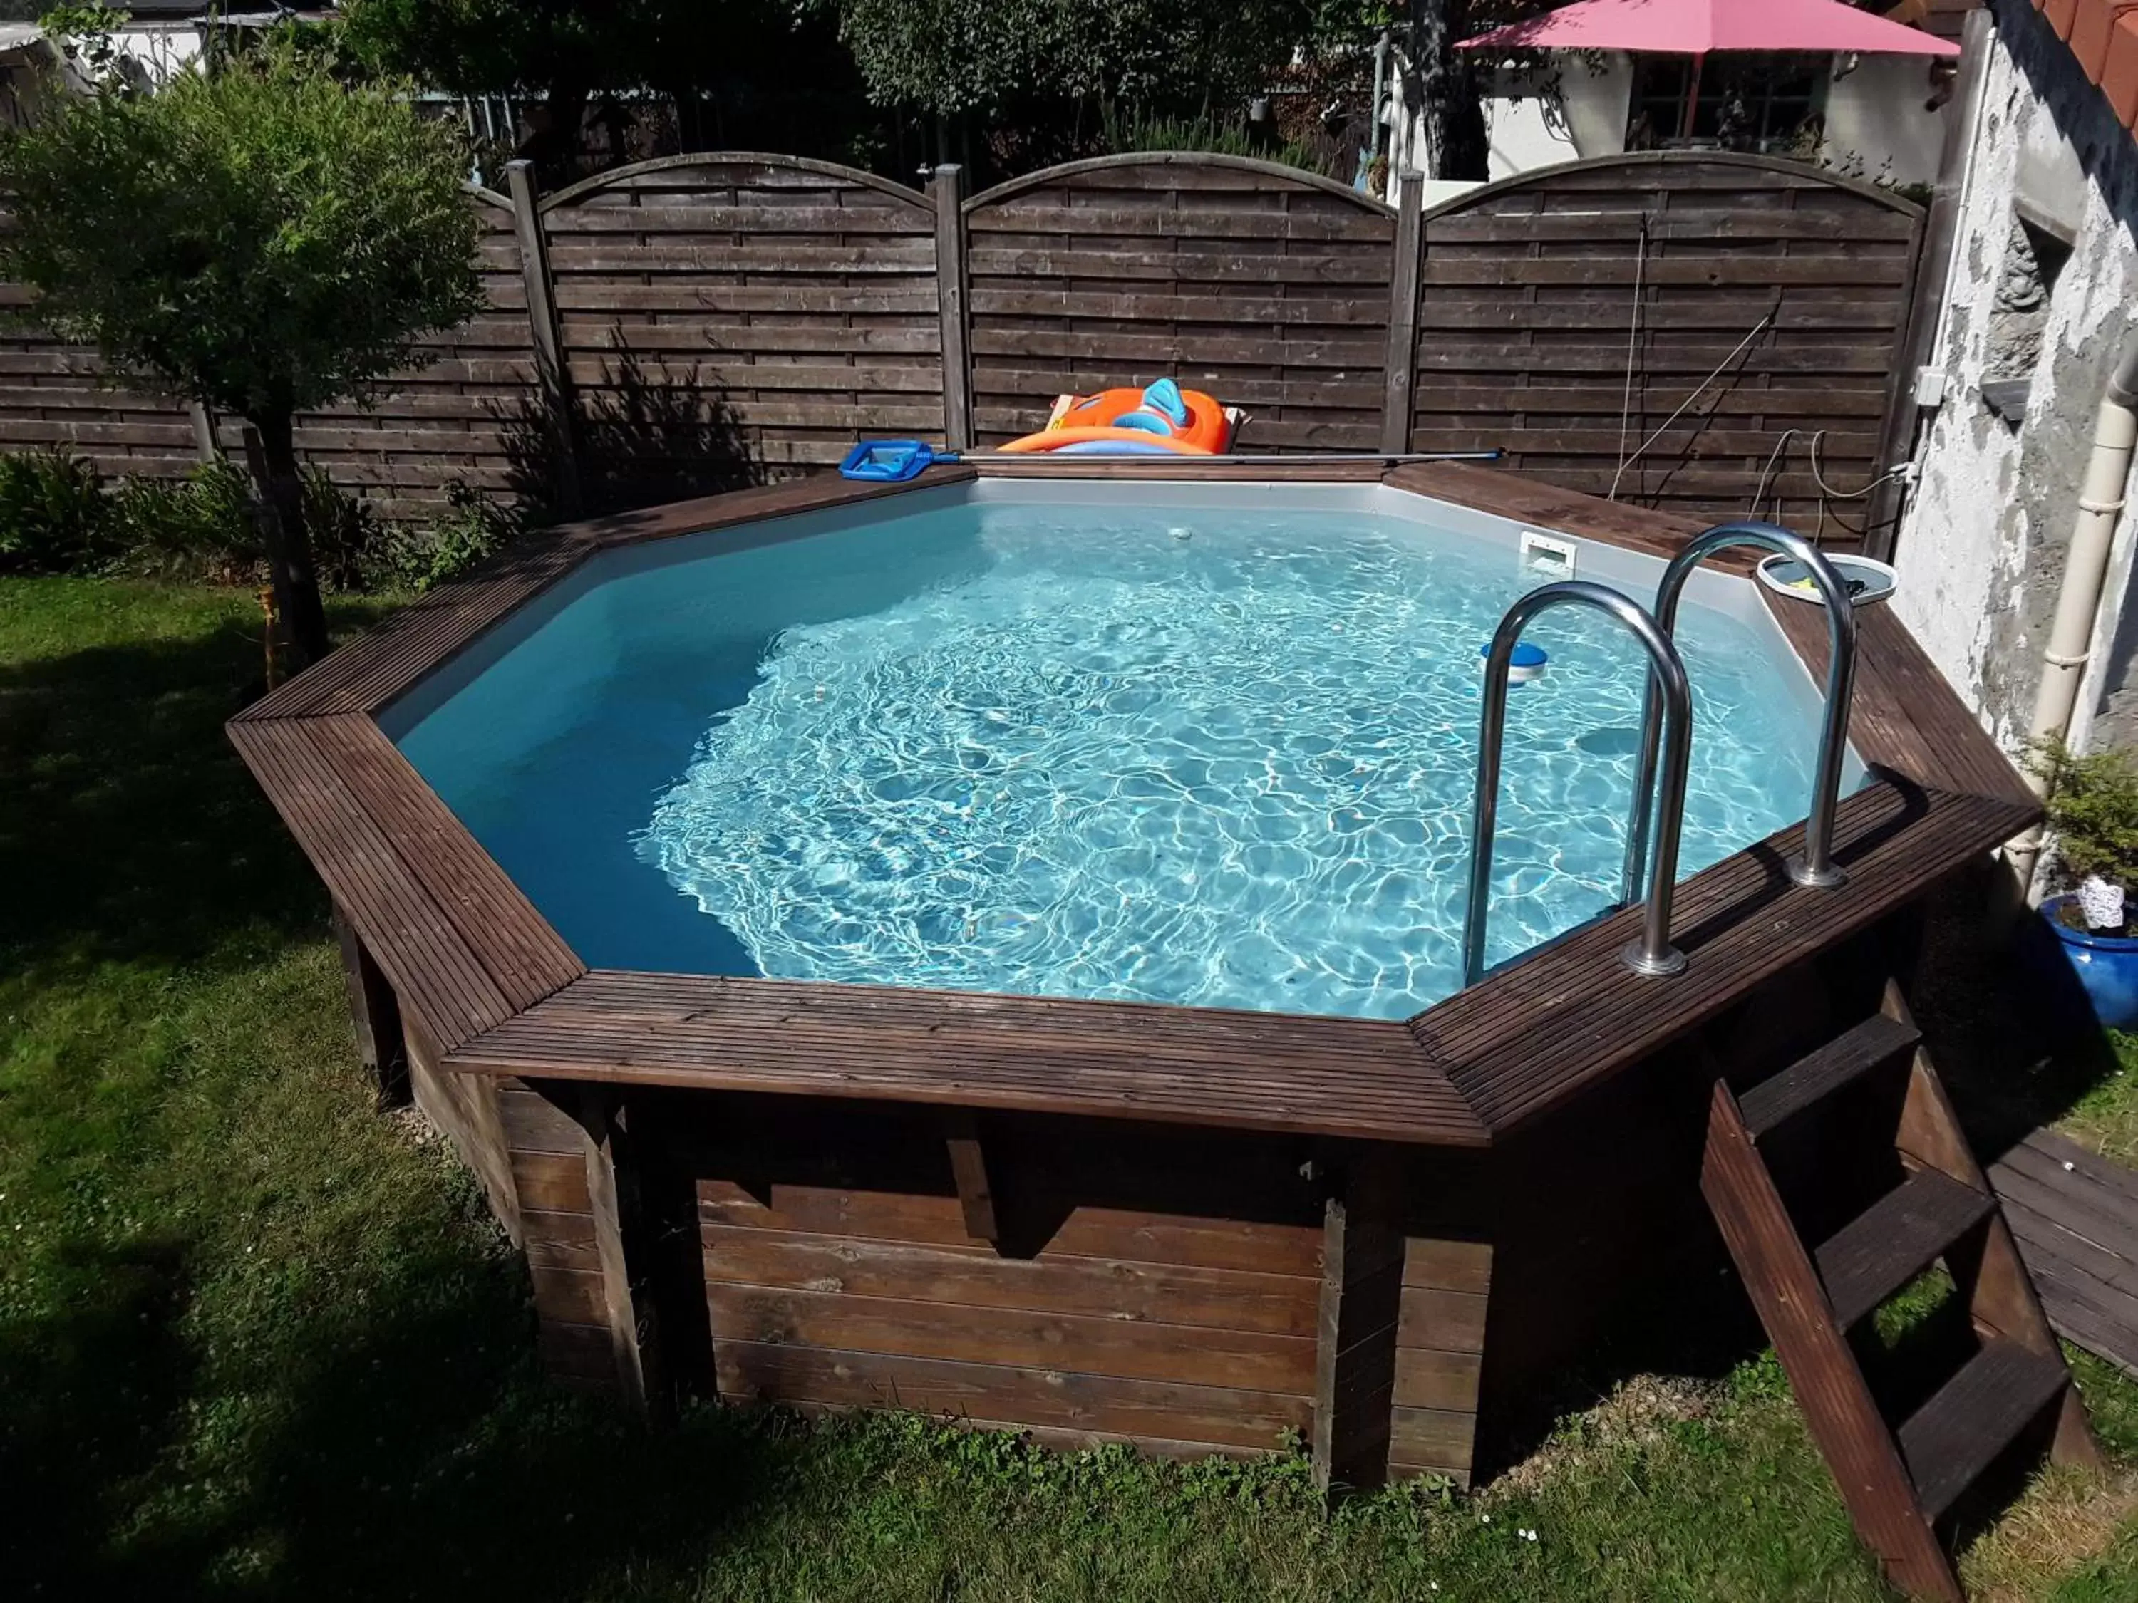
M 1952 1515 L 1988 1470 L 2100 1449 L 1899 985 L 1742 1096 L 1715 1081 L 1702 1190 L 1858 1535 L 1901 1590 L 1958 1603 Z M 1866 1323 L 1937 1261 L 1971 1351 L 1896 1389 Z

